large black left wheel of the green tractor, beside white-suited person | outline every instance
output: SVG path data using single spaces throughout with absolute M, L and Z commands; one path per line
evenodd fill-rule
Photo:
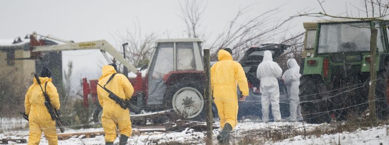
M 300 78 L 301 114 L 307 123 L 330 122 L 327 102 L 321 100 L 326 96 L 327 87 L 318 76 L 301 76 Z M 312 102 L 310 102 L 312 101 Z

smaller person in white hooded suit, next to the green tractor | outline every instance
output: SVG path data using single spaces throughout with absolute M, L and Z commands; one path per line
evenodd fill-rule
M 287 63 L 288 70 L 283 73 L 283 81 L 288 89 L 288 95 L 290 98 L 289 110 L 290 121 L 301 121 L 301 107 L 299 98 L 299 86 L 300 86 L 300 67 L 297 64 L 296 59 L 290 58 Z

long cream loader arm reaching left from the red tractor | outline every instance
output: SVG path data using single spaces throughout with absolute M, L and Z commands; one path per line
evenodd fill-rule
M 43 45 L 35 46 L 32 52 L 42 51 L 66 51 L 66 50 L 89 50 L 89 49 L 100 49 L 101 51 L 109 53 L 113 58 L 122 63 L 132 73 L 138 73 L 138 70 L 131 65 L 124 57 L 106 40 L 97 40 L 81 43 L 66 43 L 57 45 Z

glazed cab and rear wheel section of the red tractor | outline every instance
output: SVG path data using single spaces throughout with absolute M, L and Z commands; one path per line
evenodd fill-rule
M 156 43 L 146 75 L 146 105 L 173 108 L 187 118 L 197 116 L 203 110 L 201 40 L 161 39 Z

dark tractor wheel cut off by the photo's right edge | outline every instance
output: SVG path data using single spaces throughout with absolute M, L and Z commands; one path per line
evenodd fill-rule
M 389 115 L 389 61 L 385 62 L 385 68 L 377 72 L 375 88 L 376 112 L 379 119 L 385 119 Z

